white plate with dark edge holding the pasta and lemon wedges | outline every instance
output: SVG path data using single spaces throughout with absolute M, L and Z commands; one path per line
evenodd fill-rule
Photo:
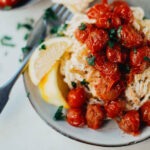
M 145 8 L 146 16 L 150 14 L 149 0 L 132 0 L 132 4 Z M 75 128 L 65 121 L 54 121 L 53 115 L 57 108 L 42 100 L 38 87 L 32 84 L 27 71 L 24 73 L 24 84 L 26 91 L 30 92 L 29 100 L 40 117 L 49 126 L 69 138 L 92 145 L 118 147 L 135 144 L 150 137 L 149 127 L 146 127 L 139 136 L 133 137 L 124 134 L 114 121 L 109 121 L 99 130 L 92 130 L 87 127 Z

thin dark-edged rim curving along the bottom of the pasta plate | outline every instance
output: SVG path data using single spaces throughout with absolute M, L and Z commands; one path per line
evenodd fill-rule
M 27 88 L 27 84 L 26 84 L 26 77 L 25 77 L 25 73 L 27 73 L 27 71 L 25 71 L 23 73 L 23 83 L 24 83 L 24 87 L 25 87 L 25 91 L 26 93 L 28 93 L 28 88 Z M 32 103 L 32 99 L 30 96 L 27 97 L 27 99 L 29 100 L 30 104 L 32 105 L 33 109 L 35 110 L 35 112 L 39 115 L 39 117 L 49 126 L 51 127 L 53 130 L 57 131 L 58 133 L 60 133 L 61 135 L 69 138 L 69 139 L 72 139 L 72 140 L 75 140 L 77 142 L 80 142 L 80 143 L 84 143 L 84 144 L 88 144 L 88 145 L 93 145 L 93 146 L 99 146 L 99 147 L 125 147 L 125 146 L 130 146 L 130 145 L 135 145 L 135 144 L 138 144 L 138 143 L 141 143 L 141 142 L 144 142 L 148 139 L 150 139 L 150 135 L 148 135 L 147 137 L 143 138 L 143 139 L 140 139 L 140 140 L 136 140 L 136 141 L 132 141 L 132 142 L 128 142 L 128 143 L 125 143 L 125 144 L 97 144 L 97 143 L 93 143 L 93 142 L 88 142 L 86 140 L 81 140 L 79 138 L 76 138 L 70 134 L 67 134 L 61 130 L 59 130 L 58 128 L 56 128 L 55 126 L 53 126 L 51 123 L 49 123 L 44 117 L 43 115 L 38 111 L 38 109 L 36 108 L 36 106 Z

